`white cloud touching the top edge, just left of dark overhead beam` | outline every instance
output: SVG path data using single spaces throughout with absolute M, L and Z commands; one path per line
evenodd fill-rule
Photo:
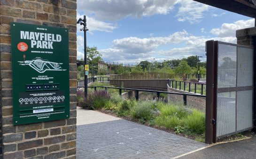
M 178 21 L 188 21 L 191 24 L 201 22 L 204 12 L 208 11 L 210 8 L 208 5 L 193 0 L 179 0 L 178 3 L 181 4 L 181 7 L 178 8 L 178 13 L 176 14 Z

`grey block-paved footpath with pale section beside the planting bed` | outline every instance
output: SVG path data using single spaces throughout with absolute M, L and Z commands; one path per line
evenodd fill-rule
M 170 159 L 207 146 L 100 112 L 77 111 L 77 159 Z

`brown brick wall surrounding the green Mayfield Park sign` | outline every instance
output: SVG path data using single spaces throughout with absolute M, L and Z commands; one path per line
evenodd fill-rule
M 76 158 L 76 8 L 76 0 L 0 0 L 0 115 L 4 159 Z M 10 22 L 69 29 L 70 119 L 12 124 Z

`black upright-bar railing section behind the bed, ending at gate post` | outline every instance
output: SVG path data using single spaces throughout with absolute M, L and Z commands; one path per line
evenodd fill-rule
M 205 83 L 196 83 L 196 82 L 186 82 L 186 81 L 177 81 L 168 79 L 168 85 L 171 88 L 191 92 L 191 93 L 201 93 L 206 95 L 206 84 Z

